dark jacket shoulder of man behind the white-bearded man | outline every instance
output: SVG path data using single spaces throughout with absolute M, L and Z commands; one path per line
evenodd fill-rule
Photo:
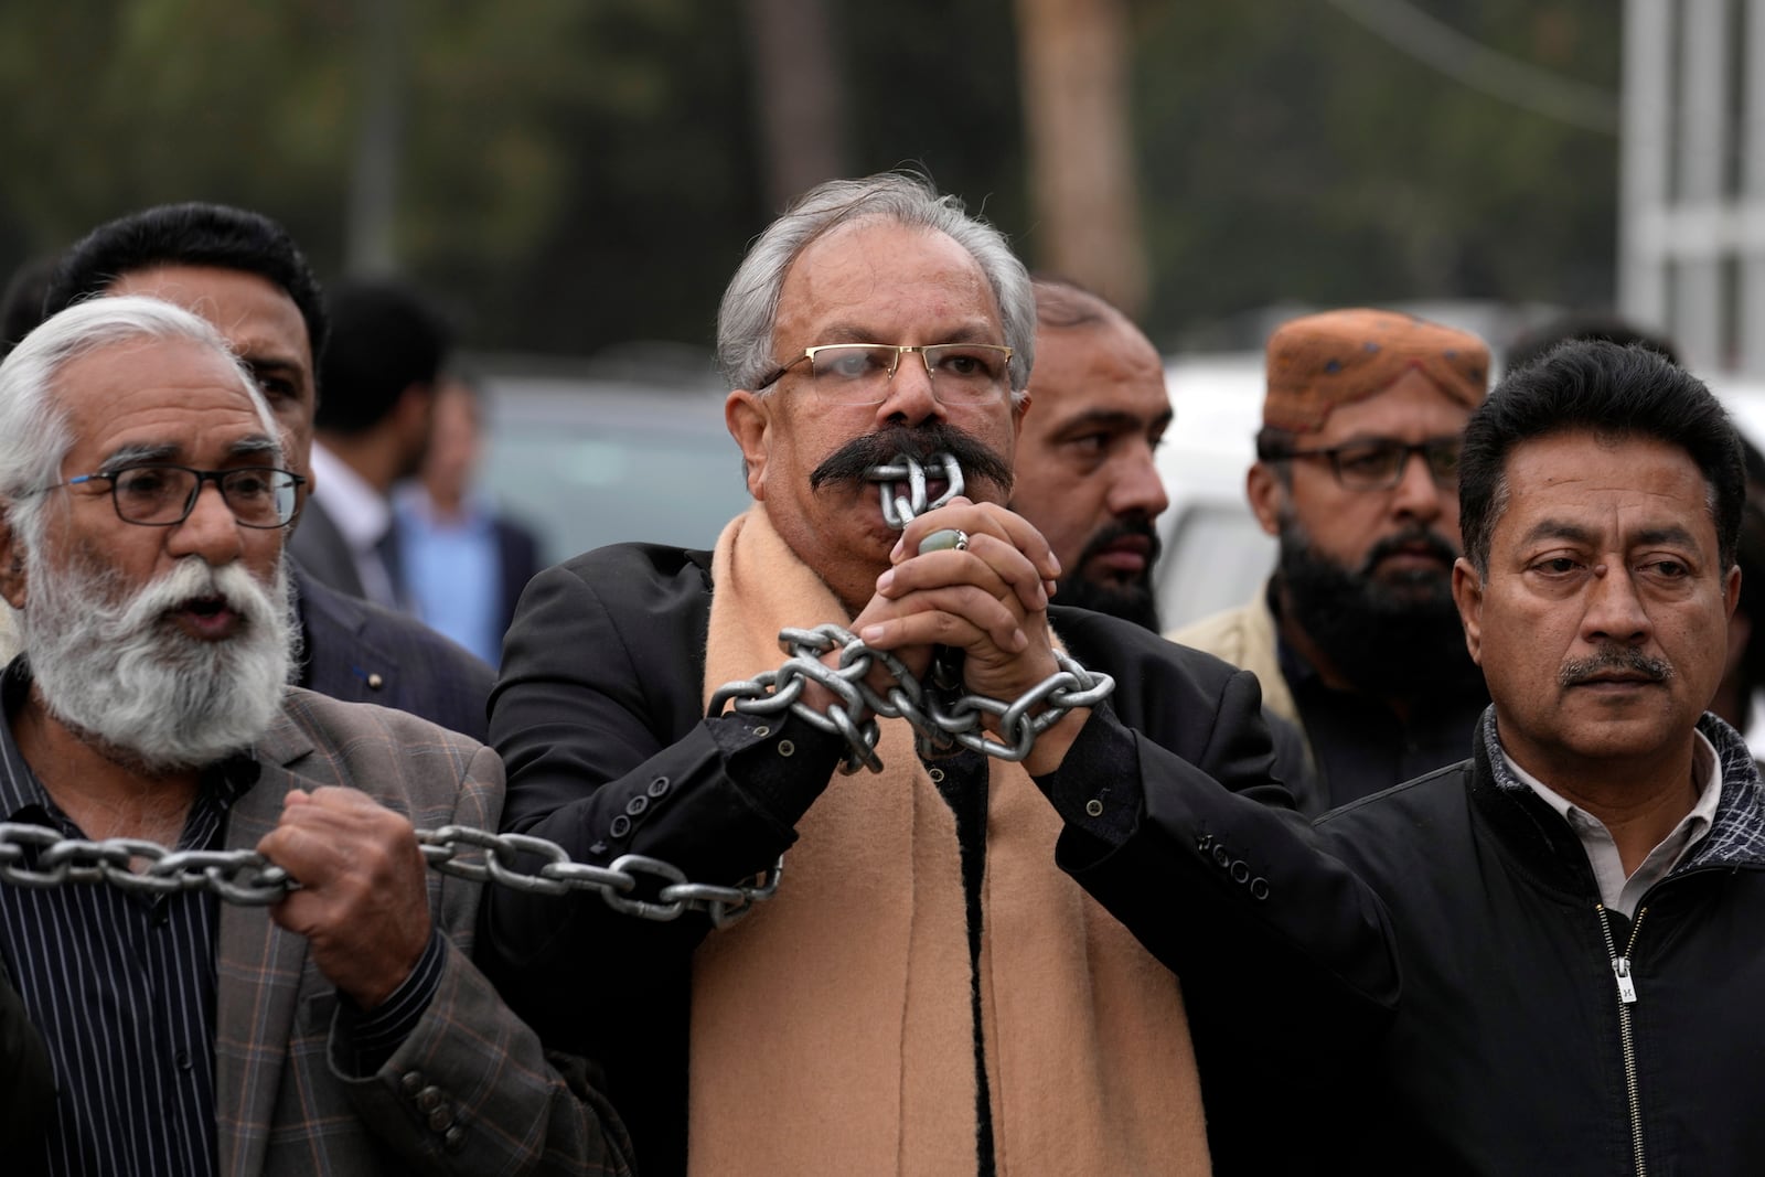
M 305 522 L 302 522 L 302 529 Z M 289 561 L 300 609 L 300 686 L 378 702 L 484 743 L 496 672 L 422 621 L 346 596 Z

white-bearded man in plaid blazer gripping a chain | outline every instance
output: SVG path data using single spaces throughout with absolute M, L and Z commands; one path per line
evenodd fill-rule
M 496 822 L 494 753 L 286 686 L 298 484 L 171 304 L 79 304 L 0 365 L 0 817 L 34 828 L 0 955 L 58 1089 L 25 1168 L 623 1173 L 598 1098 L 469 962 L 480 884 L 424 868 L 413 824 Z M 106 866 L 69 875 L 85 840 Z M 171 847 L 233 868 L 129 872 Z M 298 886 L 222 903 L 252 849 Z

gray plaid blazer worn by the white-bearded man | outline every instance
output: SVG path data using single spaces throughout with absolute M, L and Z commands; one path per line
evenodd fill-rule
M 417 828 L 496 829 L 503 768 L 425 720 L 289 688 L 233 806 L 229 849 L 268 833 L 289 789 L 362 789 Z M 337 1061 L 337 993 L 263 907 L 221 905 L 215 1126 L 228 1173 L 628 1173 L 618 1119 L 471 963 L 482 884 L 429 873 L 447 963 L 422 1022 L 376 1075 Z M 567 1080 L 554 1062 L 572 1071 Z

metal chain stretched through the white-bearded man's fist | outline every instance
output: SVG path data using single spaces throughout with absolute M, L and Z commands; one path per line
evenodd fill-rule
M 641 919 L 667 921 L 702 911 L 718 928 L 771 898 L 784 875 L 782 858 L 764 877 L 755 875 L 731 888 L 692 882 L 678 866 L 642 854 L 623 854 L 607 866 L 590 866 L 570 861 L 568 851 L 556 842 L 471 826 L 418 829 L 417 842 L 424 861 L 445 875 L 489 881 L 531 895 L 593 891 L 612 911 Z M 25 865 L 26 847 L 42 851 L 34 866 Z M 528 873 L 515 868 L 517 854 L 537 854 L 545 861 Z M 131 859 L 148 861 L 134 868 Z M 0 882 L 23 888 L 108 882 L 139 895 L 212 891 L 242 907 L 277 903 L 300 886 L 256 851 L 171 851 L 143 838 L 94 842 L 19 822 L 0 822 Z

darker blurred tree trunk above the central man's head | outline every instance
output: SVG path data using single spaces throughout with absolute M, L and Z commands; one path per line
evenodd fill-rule
M 826 0 L 748 0 L 766 201 L 845 175 L 845 90 Z

